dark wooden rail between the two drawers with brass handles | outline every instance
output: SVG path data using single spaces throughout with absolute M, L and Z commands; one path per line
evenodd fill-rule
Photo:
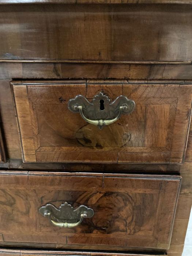
M 171 165 L 158 165 L 158 164 L 135 164 L 135 163 L 110 163 L 102 164 L 99 163 L 23 163 L 22 159 L 8 159 L 7 163 L 0 163 L 2 169 L 19 169 L 19 170 L 50 170 L 50 171 L 61 171 L 72 172 L 74 170 L 80 170 L 81 172 L 129 172 L 129 173 L 163 173 L 172 174 L 179 173 L 180 164 Z

